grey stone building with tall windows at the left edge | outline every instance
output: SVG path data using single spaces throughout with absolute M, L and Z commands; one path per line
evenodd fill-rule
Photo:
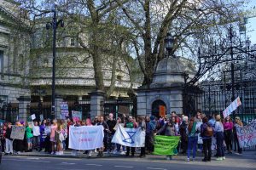
M 30 96 L 29 23 L 19 5 L 15 1 L 0 0 L 0 118 L 9 121 L 18 115 L 15 109 L 18 107 L 20 118 L 26 117 L 26 100 L 30 100 L 24 97 Z

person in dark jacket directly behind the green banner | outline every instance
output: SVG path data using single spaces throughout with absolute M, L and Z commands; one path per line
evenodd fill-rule
M 166 122 L 166 124 L 158 130 L 156 134 L 164 133 L 165 136 L 176 136 L 176 127 L 174 125 L 174 122 L 172 122 L 172 117 Z M 168 155 L 166 156 L 166 160 L 172 160 L 172 156 Z

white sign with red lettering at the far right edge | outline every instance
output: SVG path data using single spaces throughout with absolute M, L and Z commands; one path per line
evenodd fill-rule
M 241 148 L 256 144 L 256 119 L 244 127 L 236 127 L 237 138 Z

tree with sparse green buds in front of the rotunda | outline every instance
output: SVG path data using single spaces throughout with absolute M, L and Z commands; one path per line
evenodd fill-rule
M 20 0 L 33 19 L 48 17 L 50 2 L 49 0 L 39 3 L 33 0 Z M 87 57 L 92 58 L 96 90 L 107 92 L 103 81 L 103 65 L 112 70 L 111 77 L 108 77 L 111 83 L 107 94 L 110 96 L 115 85 L 116 62 L 123 54 L 123 43 L 127 36 L 125 28 L 119 26 L 117 9 L 119 4 L 125 4 L 128 0 L 120 0 L 119 3 L 113 0 L 59 0 L 57 2 L 59 15 L 66 19 L 66 26 L 62 30 L 63 35 L 60 37 L 75 38 L 89 54 Z M 37 25 L 36 20 L 34 25 Z M 84 60 L 86 59 L 79 59 L 79 62 Z

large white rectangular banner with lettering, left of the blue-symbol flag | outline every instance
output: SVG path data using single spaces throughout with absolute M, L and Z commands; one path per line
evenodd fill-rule
M 103 147 L 103 127 L 83 126 L 69 128 L 68 148 L 73 150 L 95 150 Z

